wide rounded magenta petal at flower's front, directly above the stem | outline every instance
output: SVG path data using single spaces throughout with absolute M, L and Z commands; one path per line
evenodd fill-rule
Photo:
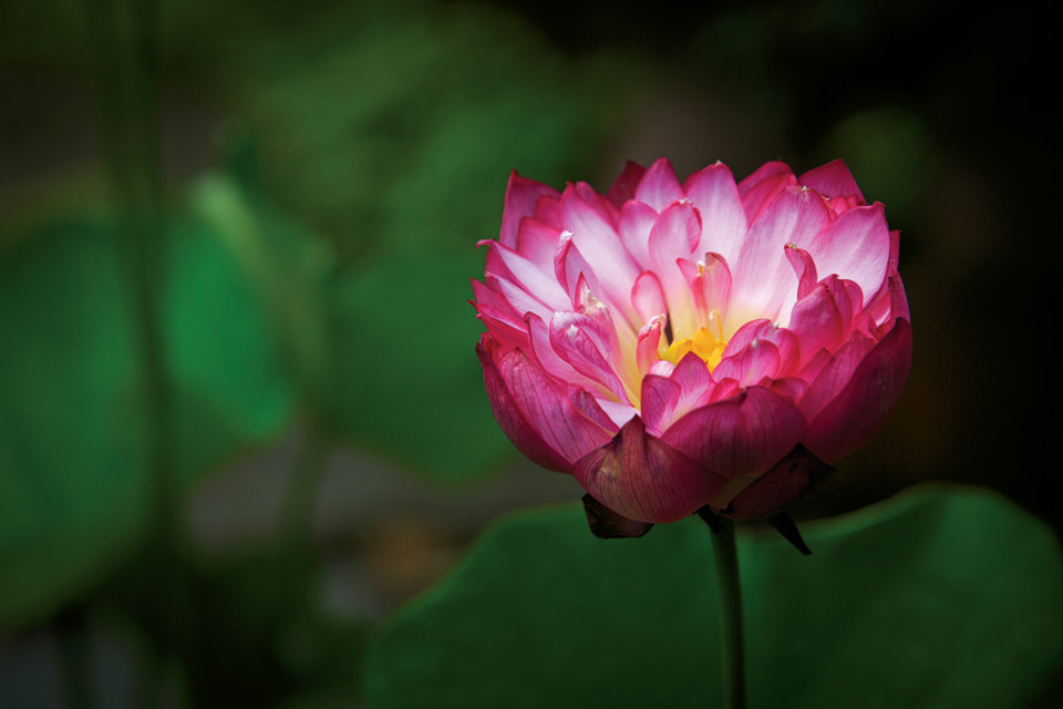
M 794 449 L 805 418 L 787 398 L 763 387 L 688 413 L 663 440 L 729 480 L 763 473 Z

